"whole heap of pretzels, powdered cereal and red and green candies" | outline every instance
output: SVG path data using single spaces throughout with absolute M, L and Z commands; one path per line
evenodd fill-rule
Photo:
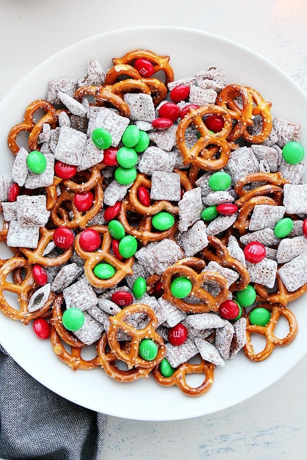
M 290 344 L 288 303 L 307 290 L 307 185 L 301 126 L 271 105 L 215 65 L 176 81 L 168 56 L 144 50 L 51 80 L 8 135 L 2 313 L 74 371 L 152 375 L 189 396 L 240 350 L 261 361 Z

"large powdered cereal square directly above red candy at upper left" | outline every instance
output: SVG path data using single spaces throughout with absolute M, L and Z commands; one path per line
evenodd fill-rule
M 84 132 L 62 126 L 54 151 L 55 158 L 68 165 L 79 166 L 86 141 L 87 137 Z

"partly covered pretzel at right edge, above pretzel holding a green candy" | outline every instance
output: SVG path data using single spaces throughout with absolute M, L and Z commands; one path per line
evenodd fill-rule
M 307 283 L 296 289 L 293 292 L 289 292 L 286 286 L 281 281 L 281 278 L 276 273 L 277 288 L 275 291 L 268 292 L 265 286 L 254 283 L 255 291 L 257 292 L 256 300 L 258 302 L 269 302 L 270 304 L 279 304 L 282 307 L 287 307 L 289 302 L 292 302 L 307 292 Z

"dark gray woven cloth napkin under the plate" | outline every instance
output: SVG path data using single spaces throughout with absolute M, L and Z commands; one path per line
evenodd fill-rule
M 0 346 L 1 460 L 99 460 L 107 417 L 56 395 Z

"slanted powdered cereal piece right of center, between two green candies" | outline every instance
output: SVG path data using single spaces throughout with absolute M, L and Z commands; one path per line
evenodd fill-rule
M 184 193 L 179 206 L 179 224 L 180 232 L 186 232 L 187 229 L 195 222 L 201 219 L 203 211 L 202 192 L 199 187 L 188 190 Z

